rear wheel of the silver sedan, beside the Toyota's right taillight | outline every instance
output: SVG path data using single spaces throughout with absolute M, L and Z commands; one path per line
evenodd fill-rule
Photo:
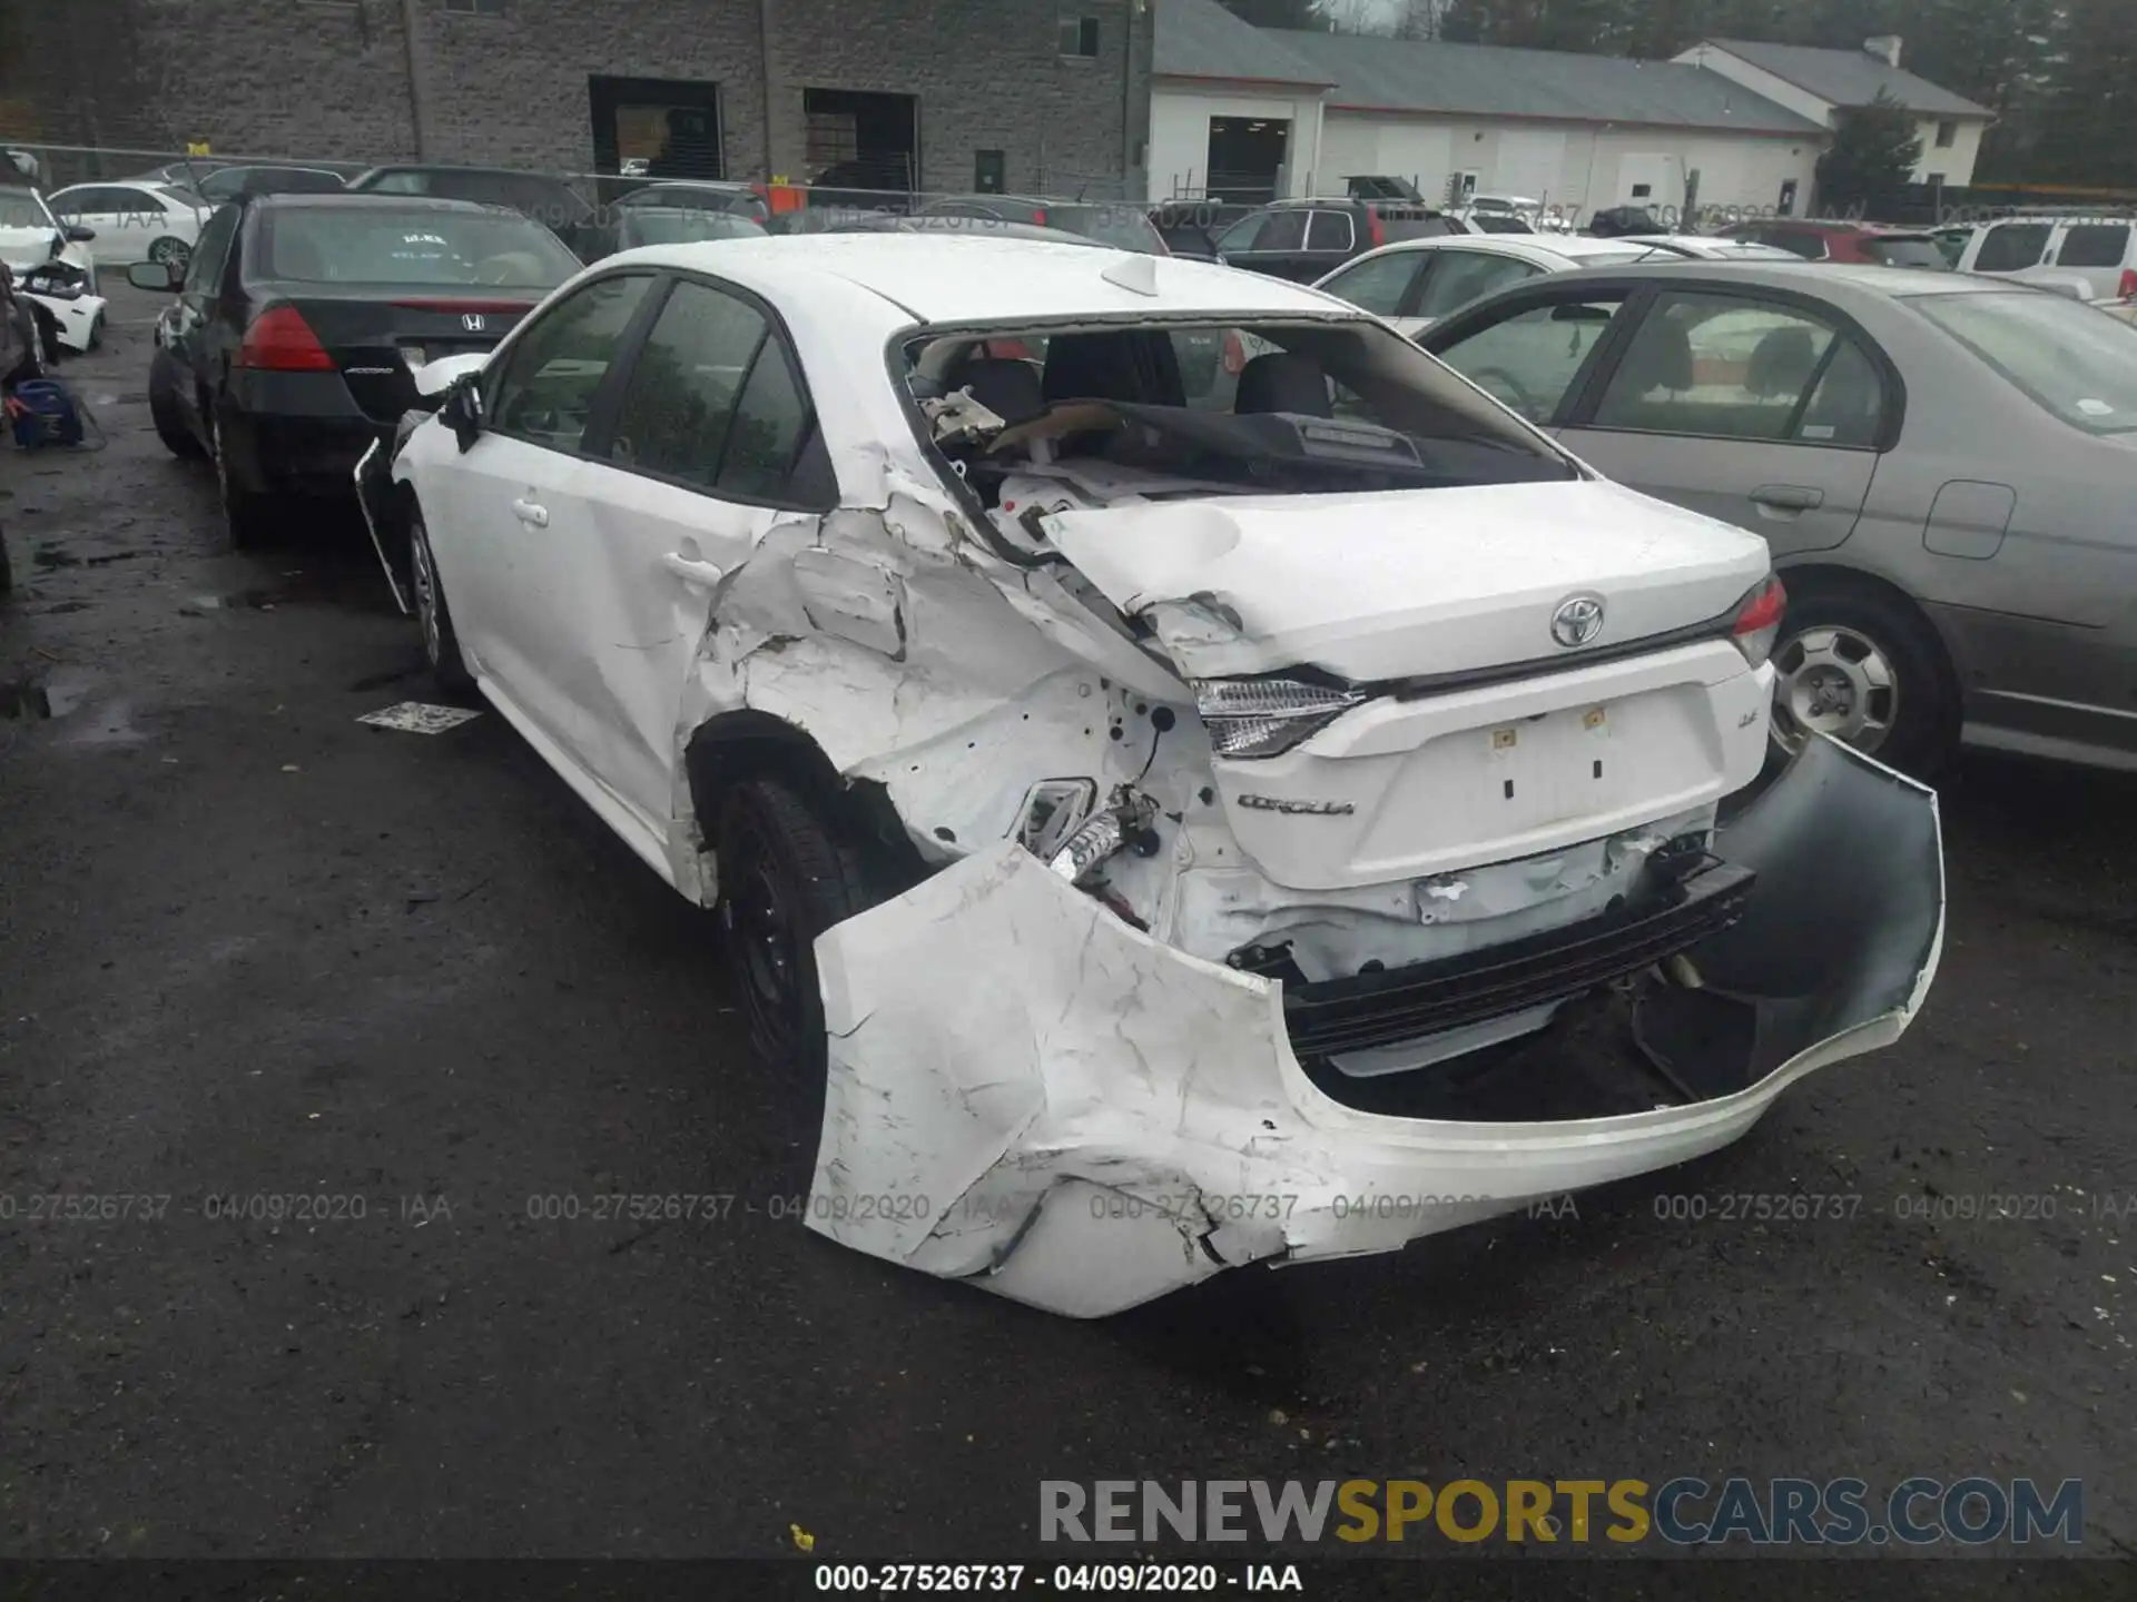
M 1846 579 L 1791 585 L 1774 643 L 1772 735 L 1793 754 L 1810 733 L 1915 778 L 1945 765 L 1960 735 L 1957 684 L 1910 602 Z

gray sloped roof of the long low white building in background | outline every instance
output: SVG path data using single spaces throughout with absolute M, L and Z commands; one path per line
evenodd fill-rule
M 1160 0 L 1158 15 L 1177 4 Z M 1329 105 L 1340 109 L 1804 137 L 1825 132 L 1703 66 L 1554 49 L 1267 32 L 1336 85 Z

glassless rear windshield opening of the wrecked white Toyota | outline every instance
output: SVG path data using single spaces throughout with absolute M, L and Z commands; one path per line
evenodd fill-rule
M 915 340 L 904 359 L 938 446 L 989 506 L 1032 472 L 1141 500 L 1579 476 L 1370 318 L 1002 327 Z

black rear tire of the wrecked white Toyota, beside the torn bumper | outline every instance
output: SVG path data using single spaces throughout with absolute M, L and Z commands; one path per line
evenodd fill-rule
M 727 792 L 718 865 L 720 921 L 750 1040 L 776 1068 L 821 1085 L 816 936 L 868 906 L 859 861 L 799 792 L 759 778 Z

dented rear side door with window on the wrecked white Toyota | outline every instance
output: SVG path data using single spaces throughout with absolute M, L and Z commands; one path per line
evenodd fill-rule
M 673 878 L 692 850 L 671 839 L 675 731 L 720 579 L 776 523 L 814 528 L 838 485 L 784 327 L 744 290 L 701 278 L 671 280 L 594 455 L 588 521 L 558 553 L 571 619 L 558 630 L 560 692 L 581 731 L 577 758 L 662 842 Z M 891 577 L 829 572 L 838 562 L 797 560 L 818 628 L 902 649 Z

